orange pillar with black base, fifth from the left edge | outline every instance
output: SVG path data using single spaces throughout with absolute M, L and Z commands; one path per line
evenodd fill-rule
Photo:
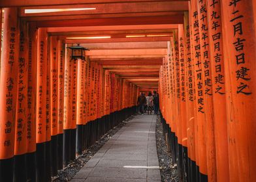
M 58 106 L 58 40 L 57 36 L 50 37 L 50 122 L 52 142 L 52 176 L 57 175 L 57 106 Z

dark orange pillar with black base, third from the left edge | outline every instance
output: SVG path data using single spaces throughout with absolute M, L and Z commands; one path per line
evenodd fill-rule
M 37 120 L 37 38 L 38 31 L 29 23 L 29 59 L 27 82 L 27 180 L 35 181 L 36 175 L 36 120 Z

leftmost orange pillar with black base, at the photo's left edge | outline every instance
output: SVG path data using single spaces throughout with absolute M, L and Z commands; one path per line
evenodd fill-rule
M 0 81 L 0 181 L 12 181 L 19 53 L 18 10 L 5 8 Z

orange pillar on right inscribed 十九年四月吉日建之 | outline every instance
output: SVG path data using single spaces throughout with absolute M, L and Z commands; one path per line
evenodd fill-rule
M 229 181 L 229 155 L 227 140 L 227 112 L 225 99 L 225 73 L 221 2 L 207 1 L 208 34 L 212 67 L 212 96 L 214 104 L 214 131 L 216 143 L 216 181 Z

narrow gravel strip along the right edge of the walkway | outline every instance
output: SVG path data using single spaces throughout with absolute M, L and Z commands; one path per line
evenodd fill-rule
M 157 140 L 157 155 L 160 166 L 161 180 L 164 182 L 178 182 L 177 166 L 172 165 L 171 153 L 167 151 L 165 138 L 163 137 L 163 127 L 160 116 L 157 116 L 157 124 L 155 127 L 155 137 Z

